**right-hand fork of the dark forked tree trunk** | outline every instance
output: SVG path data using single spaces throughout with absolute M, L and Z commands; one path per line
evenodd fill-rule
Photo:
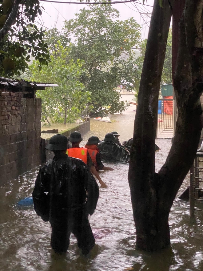
M 179 49 L 174 75 L 178 117 L 172 147 L 158 173 L 168 190 L 170 205 L 193 164 L 202 129 L 200 96 L 203 92 L 203 56 L 193 55 L 203 48 L 203 0 L 186 0 L 179 28 Z M 170 192 L 169 192 L 170 191 Z

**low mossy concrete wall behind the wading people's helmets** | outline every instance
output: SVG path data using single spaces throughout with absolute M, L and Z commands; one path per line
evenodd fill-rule
M 60 132 L 60 134 L 66 136 L 67 138 L 70 137 L 70 134 L 74 131 L 80 132 L 82 136 L 84 136 L 87 132 L 90 131 L 90 120 L 87 120 L 84 123 L 80 123 L 79 125 L 73 127 L 73 128 L 69 128 L 67 130 L 64 130 L 62 132 Z M 42 163 L 46 163 L 46 161 L 52 159 L 54 157 L 54 153 L 51 151 L 48 151 L 45 149 L 46 145 L 49 144 L 49 140 L 48 139 L 41 139 L 41 159 L 42 159 Z

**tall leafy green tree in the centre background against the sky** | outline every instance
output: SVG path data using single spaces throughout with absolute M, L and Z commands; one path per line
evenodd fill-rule
M 122 112 L 128 106 L 115 88 L 125 80 L 123 63 L 132 59 L 133 48 L 139 47 L 140 26 L 133 18 L 125 21 L 118 18 L 118 10 L 110 4 L 95 5 L 80 10 L 63 27 L 64 35 L 74 36 L 76 41 L 70 45 L 72 58 L 84 60 L 89 71 L 88 76 L 82 76 L 82 82 L 91 91 L 90 115 L 102 116 L 104 106 L 110 106 L 111 113 Z M 128 79 L 134 76 L 133 72 L 129 68 Z

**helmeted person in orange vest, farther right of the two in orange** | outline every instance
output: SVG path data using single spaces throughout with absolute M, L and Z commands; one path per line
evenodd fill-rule
M 113 168 L 105 167 L 101 162 L 101 156 L 98 149 L 98 143 L 101 142 L 97 136 L 90 136 L 85 148 L 88 149 L 92 162 L 97 171 L 99 170 L 114 170 Z

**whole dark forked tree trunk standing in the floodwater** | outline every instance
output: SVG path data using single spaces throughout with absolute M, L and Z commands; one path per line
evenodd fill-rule
M 176 133 L 167 160 L 157 174 L 154 147 L 157 104 L 171 14 L 167 1 L 163 1 L 163 8 L 158 1 L 154 2 L 129 165 L 138 249 L 154 251 L 170 244 L 169 211 L 197 151 L 202 128 L 199 97 L 203 91 L 203 60 L 202 56 L 192 54 L 194 47 L 203 48 L 202 4 L 203 0 L 186 0 L 174 78 L 179 111 Z

